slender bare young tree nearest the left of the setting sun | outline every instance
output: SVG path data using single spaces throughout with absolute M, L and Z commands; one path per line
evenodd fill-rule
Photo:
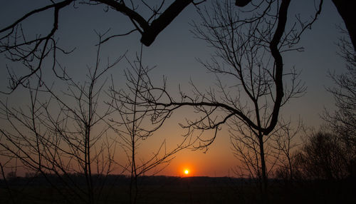
M 182 143 L 169 149 L 166 141 L 158 146 L 157 150 L 152 149 L 151 155 L 139 162 L 139 146 L 147 139 L 154 136 L 155 131 L 162 127 L 164 121 L 169 118 L 169 114 L 162 116 L 156 121 L 155 107 L 147 106 L 146 98 L 150 98 L 152 82 L 149 77 L 150 67 L 142 65 L 142 49 L 140 55 L 136 56 L 135 61 L 126 58 L 130 67 L 125 70 L 127 87 L 117 90 L 112 82 L 109 94 L 113 103 L 108 103 L 113 110 L 119 113 L 120 117 L 110 119 L 110 127 L 117 133 L 117 141 L 125 151 L 129 160 L 127 172 L 130 173 L 130 203 L 137 203 L 138 186 L 137 178 L 150 171 L 151 175 L 159 173 L 174 158 L 174 154 L 189 148 L 191 141 L 185 137 Z

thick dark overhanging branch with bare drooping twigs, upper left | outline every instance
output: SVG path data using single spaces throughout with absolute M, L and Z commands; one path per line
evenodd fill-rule
M 56 31 L 60 28 L 60 12 L 66 9 L 68 6 L 73 6 L 74 8 L 79 8 L 81 4 L 90 6 L 103 6 L 105 11 L 109 9 L 118 11 L 132 22 L 135 29 L 128 31 L 126 34 L 115 34 L 109 36 L 106 39 L 102 39 L 100 43 L 108 41 L 113 37 L 125 36 L 131 34 L 134 31 L 140 32 L 142 38 L 142 44 L 150 46 L 155 40 L 156 36 L 168 26 L 174 18 L 188 5 L 191 4 L 190 0 L 179 0 L 174 1 L 168 7 L 165 5 L 165 1 L 155 3 L 142 1 L 141 3 L 134 3 L 129 1 L 129 4 L 125 4 L 125 1 L 115 1 L 115 0 L 98 0 L 98 1 L 76 1 L 76 0 L 65 0 L 65 1 L 51 1 L 51 4 L 42 6 L 41 8 L 29 11 L 27 14 L 21 16 L 19 19 L 0 29 L 0 52 L 6 52 L 7 58 L 11 61 L 17 61 L 28 68 L 28 73 L 23 76 L 18 76 L 18 73 L 12 73 L 9 71 L 10 84 L 9 88 L 14 91 L 14 89 L 19 85 L 25 85 L 25 81 L 28 77 L 41 71 L 43 66 L 43 61 L 45 58 L 52 57 L 52 67 L 53 71 L 56 73 L 55 67 L 57 66 L 57 55 L 58 53 L 68 54 L 72 51 L 66 51 L 57 46 Z M 151 15 L 145 19 L 143 14 L 138 13 L 138 7 L 142 6 L 146 9 L 145 12 L 150 12 Z M 164 7 L 167 7 L 164 11 Z M 29 19 L 39 13 L 44 13 L 47 11 L 53 12 L 53 25 L 51 26 L 51 31 L 42 34 L 36 34 L 34 37 L 28 37 L 26 35 L 26 30 L 23 30 L 22 24 L 24 21 Z M 41 74 L 38 74 L 40 76 Z M 60 78 L 65 76 L 65 73 L 56 73 Z

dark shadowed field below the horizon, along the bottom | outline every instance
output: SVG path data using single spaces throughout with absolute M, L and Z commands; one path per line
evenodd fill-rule
M 95 187 L 96 203 L 130 203 L 130 178 L 112 176 Z M 78 180 L 77 180 L 78 181 Z M 79 182 L 80 183 L 80 182 Z M 253 180 L 209 177 L 143 177 L 138 180 L 136 203 L 265 203 Z M 355 203 L 355 182 L 271 180 L 269 203 Z M 9 187 L 9 188 L 7 188 Z M 51 186 L 43 180 L 13 178 L 1 180 L 0 203 L 85 203 L 85 186 Z M 102 187 L 102 188 L 101 188 Z M 75 190 L 76 189 L 76 190 Z M 83 190 L 83 191 L 81 191 Z M 81 192 L 81 193 L 80 193 Z

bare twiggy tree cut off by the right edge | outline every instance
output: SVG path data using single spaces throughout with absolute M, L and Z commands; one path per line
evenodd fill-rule
M 341 29 L 341 31 L 343 31 Z M 345 60 L 347 73 L 329 76 L 335 87 L 327 90 L 335 99 L 335 111 L 325 109 L 323 119 L 336 136 L 340 137 L 344 148 L 350 152 L 350 174 L 355 175 L 356 153 L 356 52 L 352 49 L 350 36 L 343 31 L 345 36 L 340 39 L 340 56 Z

